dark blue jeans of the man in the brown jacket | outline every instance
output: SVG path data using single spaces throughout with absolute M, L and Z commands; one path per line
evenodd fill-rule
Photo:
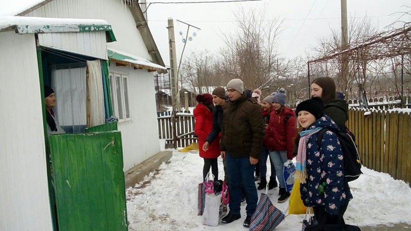
M 255 165 L 250 164 L 250 157 L 233 158 L 229 152 L 226 152 L 226 165 L 230 179 L 230 213 L 240 214 L 242 185 L 246 192 L 247 216 L 252 216 L 258 201 L 257 188 L 254 183 Z

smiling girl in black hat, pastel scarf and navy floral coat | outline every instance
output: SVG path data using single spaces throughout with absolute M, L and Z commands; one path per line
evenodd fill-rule
M 344 213 L 352 195 L 344 177 L 344 158 L 337 134 L 339 128 L 324 114 L 321 98 L 301 102 L 296 108 L 297 121 L 302 127 L 298 133 L 298 151 L 295 176 L 300 180 L 301 199 L 312 206 L 319 225 L 338 225 L 343 230 Z M 319 132 L 327 128 L 321 142 Z M 320 145 L 319 145 L 320 144 Z

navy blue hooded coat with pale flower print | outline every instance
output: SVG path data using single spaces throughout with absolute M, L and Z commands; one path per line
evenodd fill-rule
M 330 130 L 324 133 L 320 147 L 317 146 L 318 132 L 307 140 L 307 182 L 300 185 L 301 199 L 305 206 L 325 206 L 329 214 L 338 215 L 340 208 L 352 199 L 344 178 L 341 145 L 334 133 L 339 128 L 327 115 L 316 120 L 309 129 L 316 127 Z

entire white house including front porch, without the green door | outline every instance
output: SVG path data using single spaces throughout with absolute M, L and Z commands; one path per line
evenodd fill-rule
M 42 83 L 56 90 L 55 113 L 68 131 L 119 118 L 123 171 L 160 151 L 153 72 L 166 69 L 137 1 L 128 2 L 31 1 L 6 13 L 24 19 L 0 18 L 1 230 L 53 229 Z M 85 80 L 95 73 L 107 75 L 103 85 Z

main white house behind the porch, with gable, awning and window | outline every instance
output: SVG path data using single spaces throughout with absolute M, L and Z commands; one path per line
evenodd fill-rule
M 132 1 L 127 1 L 132 2 Z M 30 6 L 18 15 L 59 18 L 98 18 L 107 21 L 117 42 L 107 44 L 112 59 L 109 71 L 114 114 L 120 119 L 124 171 L 160 151 L 153 72 L 164 71 L 164 63 L 137 3 L 121 0 L 53 0 Z M 149 61 L 150 60 L 150 61 Z M 118 83 L 124 83 L 119 84 Z M 126 86 L 126 87 L 124 87 Z

